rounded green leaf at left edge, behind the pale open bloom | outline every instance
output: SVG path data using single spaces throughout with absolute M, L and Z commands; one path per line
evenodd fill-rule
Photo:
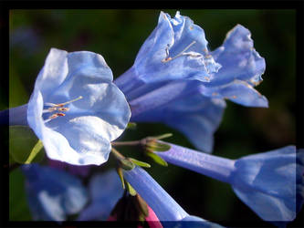
M 9 153 L 14 161 L 24 164 L 29 159 L 31 162 L 39 162 L 44 158 L 44 150 L 37 152 L 37 137 L 33 130 L 26 126 L 10 126 L 9 127 Z M 38 144 L 39 146 L 39 144 Z M 37 155 L 31 155 L 32 151 Z M 31 155 L 31 157 L 30 157 Z M 33 159 L 32 159 L 33 157 Z

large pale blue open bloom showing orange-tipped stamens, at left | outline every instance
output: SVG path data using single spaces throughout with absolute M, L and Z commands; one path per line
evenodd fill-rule
M 27 122 L 52 160 L 100 165 L 131 111 L 103 57 L 52 48 L 27 105 Z

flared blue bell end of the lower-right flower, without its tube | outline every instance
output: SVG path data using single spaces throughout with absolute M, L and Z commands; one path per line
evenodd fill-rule
M 232 187 L 263 220 L 294 220 L 296 148 L 288 146 L 237 160 Z

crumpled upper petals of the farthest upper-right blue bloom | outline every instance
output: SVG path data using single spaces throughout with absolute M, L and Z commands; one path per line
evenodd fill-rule
M 235 79 L 246 81 L 251 86 L 262 81 L 265 59 L 254 49 L 250 36 L 250 31 L 241 25 L 227 33 L 223 46 L 211 53 L 222 67 L 215 74 L 210 86 L 225 85 Z

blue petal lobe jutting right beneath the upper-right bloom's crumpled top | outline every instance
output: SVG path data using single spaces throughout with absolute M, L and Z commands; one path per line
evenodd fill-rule
M 247 107 L 268 107 L 267 98 L 241 80 L 235 80 L 221 87 L 206 87 L 202 89 L 202 93 L 212 98 L 228 98 L 237 104 Z

